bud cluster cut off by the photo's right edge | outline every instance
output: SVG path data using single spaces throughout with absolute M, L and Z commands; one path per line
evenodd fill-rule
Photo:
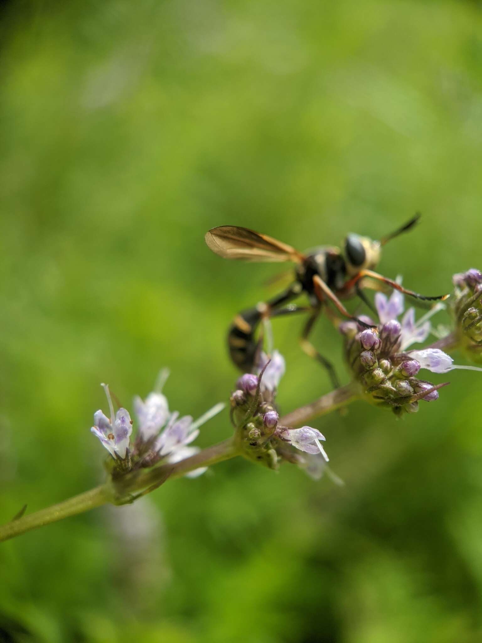
M 471 361 L 482 363 L 482 273 L 470 268 L 453 276 L 454 314 L 458 343 Z

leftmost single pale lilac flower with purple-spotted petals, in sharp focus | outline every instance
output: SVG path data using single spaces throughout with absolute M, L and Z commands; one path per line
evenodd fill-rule
M 91 431 L 98 437 L 114 460 L 125 460 L 128 455 L 129 438 L 132 433 L 132 420 L 130 419 L 129 411 L 125 408 L 120 408 L 114 416 L 114 405 L 112 404 L 109 385 L 102 384 L 101 386 L 107 396 L 111 419 L 109 420 L 102 410 L 96 411 L 94 413 L 94 426 Z

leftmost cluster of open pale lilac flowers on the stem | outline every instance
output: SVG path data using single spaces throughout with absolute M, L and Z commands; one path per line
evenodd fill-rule
M 102 385 L 111 417 L 109 419 L 102 410 L 96 411 L 91 431 L 111 454 L 107 467 L 112 476 L 118 477 L 132 469 L 152 467 L 159 462 L 174 464 L 198 453 L 199 448 L 190 445 L 199 435 L 199 427 L 224 408 L 224 404 L 216 404 L 196 421 L 190 415 L 179 417 L 178 412 L 170 412 L 166 396 L 161 393 L 167 375 L 167 371 L 161 372 L 157 389 L 145 400 L 134 398 L 138 431 L 132 443 L 133 422 L 129 411 L 121 407 L 114 414 L 109 386 Z M 202 467 L 186 475 L 195 477 L 204 471 L 206 469 Z

